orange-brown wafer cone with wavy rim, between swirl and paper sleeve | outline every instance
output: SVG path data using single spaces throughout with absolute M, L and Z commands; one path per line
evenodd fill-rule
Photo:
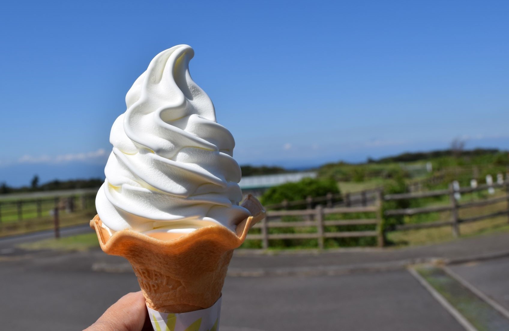
M 105 253 L 129 260 L 149 308 L 186 313 L 216 303 L 233 250 L 244 242 L 251 226 L 265 217 L 262 205 L 250 194 L 242 207 L 252 216 L 237 225 L 236 233 L 222 225 L 210 225 L 163 241 L 131 229 L 110 236 L 98 215 L 90 226 Z

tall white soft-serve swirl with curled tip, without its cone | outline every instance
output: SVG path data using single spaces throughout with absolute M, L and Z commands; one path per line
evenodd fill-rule
M 159 53 L 127 92 L 96 197 L 111 231 L 188 232 L 211 224 L 234 230 L 249 216 L 238 206 L 233 136 L 216 122 L 210 98 L 189 75 L 193 55 L 187 45 Z

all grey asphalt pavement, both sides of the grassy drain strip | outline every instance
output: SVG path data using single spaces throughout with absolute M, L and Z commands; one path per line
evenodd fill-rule
M 468 255 L 469 250 L 500 252 L 505 245 L 504 238 L 457 241 L 427 249 L 431 256 L 440 252 L 444 257 L 450 254 L 461 258 Z M 139 289 L 129 268 L 118 269 L 121 272 L 93 270 L 97 264 L 125 266 L 123 258 L 106 255 L 99 249 L 73 253 L 24 252 L 9 246 L 19 241 L 0 241 L 3 252 L 0 255 L 2 329 L 21 331 L 37 325 L 41 331 L 80 330 L 93 323 L 123 294 Z M 473 243 L 477 249 L 471 248 Z M 423 256 L 423 250 L 426 248 L 320 255 L 238 254 L 231 266 L 237 271 L 264 269 L 271 272 L 279 267 L 285 270 L 330 266 L 357 268 L 362 261 L 373 266 L 373 263 L 390 263 L 391 256 L 403 259 Z M 283 273 L 284 276 L 227 277 L 221 329 L 463 330 L 403 266 L 393 263 L 393 267 L 378 271 L 355 269 L 354 273 L 328 276 L 325 270 L 318 275 L 295 272 Z M 509 278 L 506 277 L 509 257 L 456 264 L 450 268 L 500 304 L 509 306 Z

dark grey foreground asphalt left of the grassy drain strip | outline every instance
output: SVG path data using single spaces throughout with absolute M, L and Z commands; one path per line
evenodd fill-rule
M 92 271 L 97 256 L 40 252 L 0 261 L 2 329 L 21 331 L 37 325 L 40 331 L 80 330 L 120 296 L 138 290 L 132 273 Z M 221 329 L 462 330 L 405 270 L 228 277 Z

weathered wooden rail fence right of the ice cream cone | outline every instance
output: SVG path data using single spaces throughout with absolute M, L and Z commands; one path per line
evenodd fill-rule
M 503 196 L 486 198 L 484 200 L 472 201 L 460 203 L 457 200 L 457 193 L 472 193 L 478 191 L 487 191 L 492 188 L 503 188 L 505 189 L 505 194 Z M 450 212 L 450 219 L 447 221 L 435 221 L 435 222 L 426 222 L 426 223 L 416 223 L 416 224 L 398 224 L 391 230 L 409 230 L 409 229 L 420 229 L 420 228 L 432 228 L 439 226 L 450 226 L 453 235 L 455 237 L 460 236 L 460 228 L 459 225 L 463 223 L 475 222 L 479 220 L 484 220 L 488 218 L 493 218 L 501 215 L 506 215 L 509 218 L 509 182 L 504 183 L 494 183 L 491 185 L 479 185 L 477 187 L 465 187 L 460 189 L 455 189 L 454 185 L 450 185 L 449 189 L 444 190 L 434 190 L 434 191 L 425 191 L 425 192 L 412 192 L 412 193 L 402 193 L 402 194 L 387 194 L 383 195 L 381 189 L 373 190 L 373 194 L 376 194 L 375 205 L 374 206 L 366 206 L 366 207 L 331 207 L 334 203 L 334 198 L 337 195 L 332 196 L 328 194 L 325 197 L 318 197 L 311 200 L 308 198 L 304 201 L 297 201 L 293 203 L 284 203 L 280 205 L 274 205 L 275 207 L 293 207 L 293 206 L 302 206 L 305 203 L 307 209 L 305 210 L 277 210 L 277 211 L 268 211 L 267 218 L 262 220 L 259 224 L 255 225 L 254 228 L 260 228 L 261 234 L 256 235 L 248 235 L 248 240 L 261 240 L 262 248 L 269 247 L 269 240 L 271 239 L 318 239 L 318 247 L 324 247 L 324 239 L 325 238 L 354 238 L 354 237 L 377 237 L 377 242 L 379 246 L 385 245 L 385 226 L 383 226 L 382 220 L 382 201 L 395 201 L 395 200 L 410 200 L 410 199 L 418 199 L 418 198 L 428 198 L 428 197 L 436 197 L 436 196 L 449 196 L 449 204 L 442 206 L 430 206 L 430 207 L 421 207 L 421 208 L 407 208 L 407 209 L 393 209 L 393 210 L 385 210 L 383 212 L 384 218 L 387 219 L 391 216 L 399 216 L 399 215 L 417 215 L 423 213 L 435 213 L 435 212 Z M 343 197 L 344 198 L 344 197 Z M 470 217 L 460 217 L 459 210 L 462 208 L 469 207 L 482 207 L 489 206 L 493 204 L 497 204 L 500 202 L 507 202 L 507 208 L 503 210 L 491 212 L 484 215 L 470 216 Z M 317 205 L 315 209 L 313 208 L 313 204 L 324 204 L 326 207 L 322 205 Z M 272 207 L 272 206 L 270 206 Z M 370 219 L 354 219 L 354 220 L 326 220 L 324 221 L 325 215 L 328 214 L 347 214 L 347 213 L 375 213 L 376 217 Z M 293 222 L 283 222 L 281 220 L 284 216 L 300 216 L 303 218 L 307 218 L 305 221 L 293 221 Z M 340 232 L 331 232 L 328 233 L 324 231 L 324 226 L 328 225 L 363 225 L 363 224 L 373 224 L 376 225 L 376 230 L 371 231 L 340 231 Z M 281 228 L 281 227 L 316 227 L 316 233 L 310 234 L 270 234 L 270 228 Z

